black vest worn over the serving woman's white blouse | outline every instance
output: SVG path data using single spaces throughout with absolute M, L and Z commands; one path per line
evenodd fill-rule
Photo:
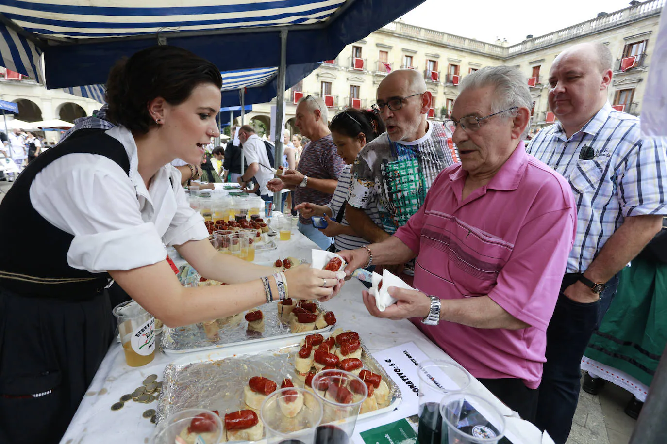
M 129 174 L 129 158 L 123 144 L 104 133 L 83 129 L 37 156 L 19 174 L 0 203 L 0 234 L 4 254 L 0 255 L 0 287 L 23 296 L 83 300 L 101 292 L 108 273 L 77 270 L 67 264 L 67 252 L 74 236 L 56 228 L 33 208 L 30 186 L 45 166 L 71 153 L 105 156 Z

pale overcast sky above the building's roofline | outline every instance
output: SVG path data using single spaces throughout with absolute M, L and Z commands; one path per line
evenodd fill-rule
M 426 0 L 402 18 L 410 25 L 495 43 L 520 43 L 630 6 L 629 0 Z

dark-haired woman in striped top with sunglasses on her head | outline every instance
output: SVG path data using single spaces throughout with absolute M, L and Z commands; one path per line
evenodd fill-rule
M 338 148 L 338 155 L 346 163 L 338 178 L 338 185 L 333 192 L 333 197 L 327 205 L 302 202 L 294 209 L 300 210 L 306 218 L 311 216 L 323 216 L 325 218 L 327 227 L 320 229 L 320 231 L 333 237 L 332 248 L 335 249 L 334 251 L 348 250 L 353 246 L 354 248 L 360 248 L 362 245 L 368 244 L 368 240 L 361 238 L 345 218 L 345 204 L 352 178 L 350 168 L 366 143 L 384 132 L 384 123 L 375 112 L 348 108 L 336 114 L 331 120 L 331 124 L 329 124 L 329 130 L 331 130 L 333 143 Z M 380 224 L 376 206 L 370 206 L 365 211 L 376 224 Z

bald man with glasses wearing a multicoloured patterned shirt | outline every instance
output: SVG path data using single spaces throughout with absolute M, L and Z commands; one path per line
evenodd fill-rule
M 424 204 L 436 176 L 458 162 L 451 132 L 426 120 L 431 107 L 424 77 L 414 69 L 392 71 L 378 86 L 372 109 L 387 131 L 366 144 L 354 162 L 345 213 L 362 238 L 382 242 L 394 234 Z M 364 212 L 372 206 L 380 226 Z M 403 266 L 392 271 L 402 272 Z M 412 275 L 410 264 L 405 272 Z

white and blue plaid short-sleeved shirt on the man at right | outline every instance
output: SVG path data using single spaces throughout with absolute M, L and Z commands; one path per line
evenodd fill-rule
M 580 159 L 584 147 L 592 159 Z M 569 182 L 577 204 L 577 234 L 568 273 L 585 272 L 628 216 L 667 214 L 666 138 L 642 138 L 639 118 L 606 103 L 567 138 L 560 122 L 543 128 L 528 152 Z

